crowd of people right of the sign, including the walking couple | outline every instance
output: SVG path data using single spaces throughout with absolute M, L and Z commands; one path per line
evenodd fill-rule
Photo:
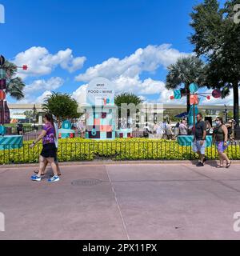
M 197 166 L 204 166 L 206 162 L 206 136 L 212 136 L 212 140 L 217 147 L 220 163 L 217 168 L 230 167 L 230 159 L 227 157 L 225 151 L 231 141 L 234 141 L 234 126 L 236 122 L 229 120 L 224 124 L 221 117 L 215 119 L 216 126 L 211 126 L 210 121 L 203 121 L 202 114 L 197 115 L 197 123 L 194 126 L 188 126 L 185 118 L 178 122 L 175 128 L 178 129 L 177 134 L 174 133 L 170 122 L 154 123 L 153 130 L 148 124 L 144 127 L 143 136 L 149 138 L 149 134 L 153 134 L 153 138 L 174 139 L 178 135 L 194 135 L 193 150 L 199 155 L 199 162 Z

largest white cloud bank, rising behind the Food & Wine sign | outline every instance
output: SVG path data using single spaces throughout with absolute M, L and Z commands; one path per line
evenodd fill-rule
M 169 44 L 146 46 L 144 49 L 139 48 L 126 58 L 109 58 L 101 64 L 91 66 L 84 74 L 79 74 L 75 79 L 80 82 L 90 82 L 96 77 L 108 78 L 114 83 L 116 94 L 122 92 L 137 95 L 168 94 L 164 82 L 152 78 L 142 80 L 140 74 L 142 72 L 153 73 L 160 66 L 166 68 L 176 62 L 179 57 L 186 55 L 189 54 L 181 53 L 171 48 Z M 86 86 L 87 84 L 80 86 L 78 90 L 74 91 L 73 95 L 78 102 L 86 101 Z

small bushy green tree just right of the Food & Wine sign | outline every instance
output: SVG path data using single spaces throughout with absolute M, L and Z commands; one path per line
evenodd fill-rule
M 118 106 L 118 117 L 121 117 L 121 104 L 126 103 L 130 104 L 133 103 L 135 106 L 141 104 L 143 101 L 135 94 L 123 93 L 118 94 L 114 98 L 115 105 Z M 137 110 L 138 113 L 139 110 Z M 130 116 L 130 110 L 127 110 L 127 118 Z M 118 118 L 118 126 L 120 127 L 120 118 Z

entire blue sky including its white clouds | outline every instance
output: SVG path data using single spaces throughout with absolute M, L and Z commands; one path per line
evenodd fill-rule
M 118 93 L 165 101 L 166 66 L 192 52 L 189 14 L 199 2 L 0 0 L 6 9 L 1 54 L 30 66 L 19 74 L 27 85 L 23 102 L 41 102 L 51 90 L 81 102 L 98 75 L 115 82 Z

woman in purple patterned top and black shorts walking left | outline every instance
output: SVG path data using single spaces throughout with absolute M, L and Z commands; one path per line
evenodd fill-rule
M 42 133 L 38 136 L 38 138 L 30 145 L 30 148 L 33 148 L 41 139 L 42 139 L 42 152 L 39 157 L 39 170 L 38 174 L 31 176 L 31 180 L 40 182 L 41 174 L 44 172 L 44 168 L 46 166 L 46 161 L 50 163 L 54 171 L 54 176 L 49 178 L 49 182 L 58 182 L 58 169 L 54 159 L 56 159 L 56 146 L 55 146 L 55 138 L 56 138 L 56 130 L 54 127 L 54 120 L 52 114 L 45 114 Z

